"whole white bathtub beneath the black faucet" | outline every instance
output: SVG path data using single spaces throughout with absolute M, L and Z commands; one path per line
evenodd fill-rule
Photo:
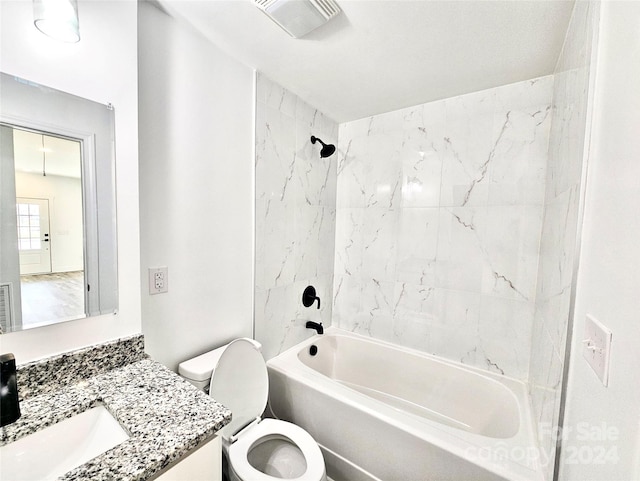
M 335 481 L 543 480 L 523 383 L 325 332 L 267 363 L 269 403 L 320 444 Z

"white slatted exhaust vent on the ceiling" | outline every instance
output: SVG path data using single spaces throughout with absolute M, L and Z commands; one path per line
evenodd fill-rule
M 256 6 L 294 38 L 304 37 L 340 13 L 333 0 L 254 0 Z

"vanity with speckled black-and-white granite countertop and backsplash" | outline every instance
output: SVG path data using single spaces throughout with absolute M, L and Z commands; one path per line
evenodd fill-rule
M 100 411 L 122 436 L 101 454 L 75 466 L 67 466 L 51 478 L 76 480 L 221 479 L 221 450 L 216 433 L 231 420 L 231 412 L 188 382 L 151 360 L 144 353 L 141 335 L 65 353 L 18 366 L 18 390 L 22 416 L 5 427 L 0 441 L 2 473 L 17 457 L 5 448 L 13 443 L 46 435 L 50 427 L 65 428 L 80 415 Z M 94 409 L 98 408 L 98 409 Z M 111 419 L 112 418 L 112 419 Z M 82 423 L 80 423 L 82 424 Z M 85 423 L 91 429 L 97 421 Z M 51 428 L 52 429 L 52 428 Z M 64 432 L 64 431 L 63 431 Z M 52 434 L 49 446 L 69 437 Z M 84 448 L 104 434 L 81 434 L 71 450 Z M 15 445 L 15 444 L 14 444 Z M 25 449 L 29 454 L 31 448 Z M 61 448 L 64 449 L 64 448 Z M 66 456 L 66 453 L 65 453 Z M 76 457 L 71 453 L 70 457 Z M 40 469 L 49 476 L 44 457 L 17 469 Z M 39 465 L 40 464 L 40 465 Z M 57 464 L 57 463 L 52 463 Z M 69 469 L 68 469 L 69 468 Z M 52 470 L 61 469 L 58 466 Z M 42 471 L 44 470 L 44 471 Z M 8 478 L 7 478 L 8 479 Z

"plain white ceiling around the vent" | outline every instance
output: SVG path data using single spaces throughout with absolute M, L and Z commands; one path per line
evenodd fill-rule
M 338 122 L 553 73 L 574 1 L 338 0 L 291 38 L 253 0 L 158 0 Z

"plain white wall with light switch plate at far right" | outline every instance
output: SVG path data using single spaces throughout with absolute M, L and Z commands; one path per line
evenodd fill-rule
M 640 479 L 639 58 L 640 3 L 603 2 L 561 480 Z M 613 332 L 608 387 L 582 358 L 587 314 Z

